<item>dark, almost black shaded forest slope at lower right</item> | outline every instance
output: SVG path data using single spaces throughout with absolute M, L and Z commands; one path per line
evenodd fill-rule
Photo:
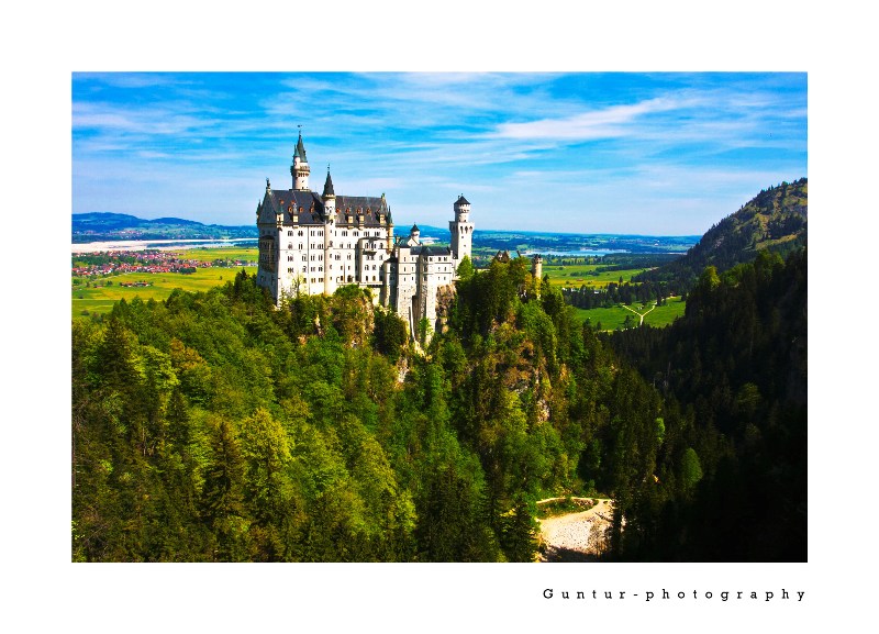
M 666 329 L 616 332 L 615 351 L 689 412 L 687 496 L 669 477 L 632 511 L 628 555 L 678 560 L 805 560 L 806 251 L 760 252 L 717 275 L 709 267 Z

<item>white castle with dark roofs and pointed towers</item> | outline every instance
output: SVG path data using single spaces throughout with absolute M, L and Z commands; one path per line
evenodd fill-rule
M 327 167 L 323 193 L 318 194 L 309 189 L 310 171 L 300 133 L 290 166 L 292 189 L 272 190 L 266 179 L 256 208 L 257 285 L 280 304 L 285 297 L 332 294 L 356 283 L 405 320 L 412 336 L 422 319 L 436 329 L 437 293 L 457 279 L 458 265 L 470 257 L 474 224 L 467 199 L 455 201 L 450 245 L 429 246 L 421 242 L 418 225 L 407 237 L 394 237 L 383 193 L 336 196 Z

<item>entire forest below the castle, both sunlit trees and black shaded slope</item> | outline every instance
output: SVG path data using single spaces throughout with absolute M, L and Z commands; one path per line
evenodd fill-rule
M 805 253 L 706 269 L 600 335 L 526 258 L 423 349 L 368 291 L 244 270 L 71 324 L 75 561 L 533 561 L 535 502 L 614 499 L 607 560 L 805 560 Z

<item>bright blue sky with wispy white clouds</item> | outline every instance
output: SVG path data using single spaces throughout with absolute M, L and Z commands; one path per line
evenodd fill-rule
M 702 234 L 806 173 L 805 73 L 73 74 L 73 211 L 249 224 L 289 188 L 403 226 Z

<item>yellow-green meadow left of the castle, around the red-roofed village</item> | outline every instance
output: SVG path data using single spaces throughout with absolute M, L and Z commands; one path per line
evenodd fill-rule
M 213 262 L 214 259 L 244 259 L 255 262 L 256 248 L 221 247 L 193 248 L 182 252 L 186 259 Z M 75 278 L 71 283 L 71 314 L 87 318 L 90 314 L 109 313 L 121 299 L 131 301 L 138 297 L 144 301 L 165 300 L 174 289 L 185 291 L 207 291 L 215 286 L 232 281 L 242 267 L 197 268 L 192 274 L 180 272 L 125 272 L 109 277 Z M 247 275 L 256 274 L 256 266 L 244 267 Z M 77 283 L 78 282 L 78 283 Z M 86 283 L 89 288 L 86 288 Z M 122 282 L 148 282 L 147 287 L 123 287 Z

